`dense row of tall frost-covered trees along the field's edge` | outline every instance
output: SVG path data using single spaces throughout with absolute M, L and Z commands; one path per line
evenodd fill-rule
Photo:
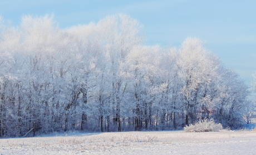
M 178 50 L 143 43 L 124 14 L 68 29 L 49 16 L 0 23 L 0 137 L 23 136 L 33 122 L 38 133 L 241 122 L 247 86 L 199 39 Z

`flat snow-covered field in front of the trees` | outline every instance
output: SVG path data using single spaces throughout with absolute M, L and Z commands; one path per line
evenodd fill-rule
M 256 154 L 255 131 L 67 133 L 0 139 L 0 154 Z

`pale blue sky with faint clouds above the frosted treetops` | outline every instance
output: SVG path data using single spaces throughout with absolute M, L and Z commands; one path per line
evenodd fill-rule
M 205 42 L 250 84 L 256 70 L 256 1 L 34 1 L 1 0 L 0 14 L 12 25 L 23 15 L 53 18 L 60 28 L 97 23 L 107 15 L 125 13 L 144 25 L 146 45 L 177 46 L 187 37 Z

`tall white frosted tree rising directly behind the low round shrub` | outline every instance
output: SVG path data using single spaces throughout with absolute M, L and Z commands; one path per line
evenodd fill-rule
M 216 75 L 214 61 L 209 59 L 209 54 L 200 40 L 187 38 L 179 51 L 178 68 L 179 76 L 183 83 L 181 94 L 184 99 L 186 111 L 186 125 L 195 122 L 200 108 L 210 102 L 206 96 L 206 87 Z M 205 103 L 206 102 L 206 103 Z M 201 105 L 202 104 L 202 105 Z

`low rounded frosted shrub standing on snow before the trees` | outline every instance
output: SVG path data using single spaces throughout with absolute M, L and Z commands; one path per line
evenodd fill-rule
M 184 127 L 185 132 L 218 132 L 222 129 L 223 127 L 221 123 L 215 123 L 213 119 L 201 120 L 194 125 L 190 124 L 189 126 Z

